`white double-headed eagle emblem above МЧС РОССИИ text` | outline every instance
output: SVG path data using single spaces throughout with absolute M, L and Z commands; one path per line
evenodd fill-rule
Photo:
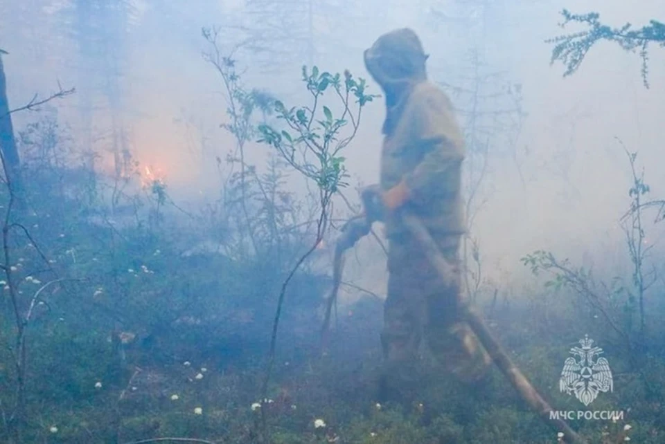
M 603 353 L 603 349 L 592 346 L 593 344 L 594 341 L 585 335 L 584 339 L 580 340 L 581 348 L 570 349 L 570 353 L 578 356 L 579 360 L 568 358 L 563 364 L 559 379 L 560 391 L 574 393 L 584 405 L 593 403 L 601 391 L 606 393 L 614 389 L 610 364 L 605 358 L 597 358 Z

